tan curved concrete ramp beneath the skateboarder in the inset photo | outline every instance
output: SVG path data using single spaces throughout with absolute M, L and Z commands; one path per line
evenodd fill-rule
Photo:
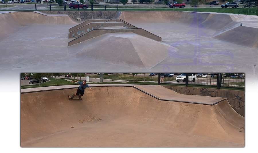
M 172 100 L 175 92 L 133 86 L 92 86 L 83 100 L 68 100 L 76 88 L 21 90 L 21 147 L 245 146 L 245 119 L 227 100 L 212 106 L 159 100 L 152 95 L 163 91 Z

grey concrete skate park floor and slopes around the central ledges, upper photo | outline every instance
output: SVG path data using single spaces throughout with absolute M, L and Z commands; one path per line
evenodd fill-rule
M 44 67 L 50 73 L 67 70 L 76 73 L 85 67 L 80 61 L 85 61 L 89 63 L 85 71 L 96 73 L 241 72 L 246 74 L 247 85 L 252 86 L 247 92 L 257 91 L 257 16 L 233 15 L 233 18 L 225 13 L 170 11 L 119 13 L 116 18 L 161 37 L 162 42 L 132 33 L 111 33 L 68 46 L 72 40 L 68 38 L 68 29 L 84 21 L 76 21 L 69 15 L 1 12 L 0 45 L 9 47 L 1 48 L 0 71 L 15 75 Z M 206 35 L 198 33 L 201 35 L 197 37 L 193 23 L 200 25 Z M 241 33 L 242 30 L 249 32 Z

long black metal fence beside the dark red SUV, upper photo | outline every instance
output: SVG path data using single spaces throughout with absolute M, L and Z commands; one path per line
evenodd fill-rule
M 58 10 L 58 11 L 68 11 L 68 10 L 78 10 L 78 11 L 117 11 L 118 10 L 118 5 L 89 5 L 88 8 L 79 7 L 78 6 L 73 6 L 69 8 L 69 5 L 36 5 L 35 4 L 35 9 L 36 11 L 38 10 L 44 10 L 44 11 L 52 11 L 52 10 Z

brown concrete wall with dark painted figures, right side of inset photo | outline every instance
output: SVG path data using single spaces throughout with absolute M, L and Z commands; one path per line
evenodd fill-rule
M 163 86 L 180 94 L 200 95 L 227 98 L 230 106 L 241 116 L 245 117 L 245 92 L 212 88 L 195 88 L 181 86 Z

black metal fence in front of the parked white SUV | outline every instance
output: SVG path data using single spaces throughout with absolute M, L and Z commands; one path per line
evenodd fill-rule
M 159 84 L 181 84 L 213 86 L 223 88 L 245 88 L 245 74 L 224 74 L 224 73 L 165 73 L 164 81 L 159 79 Z M 160 78 L 160 73 L 158 74 Z M 188 77 L 187 77 L 188 75 Z M 188 79 L 187 79 L 188 78 Z

